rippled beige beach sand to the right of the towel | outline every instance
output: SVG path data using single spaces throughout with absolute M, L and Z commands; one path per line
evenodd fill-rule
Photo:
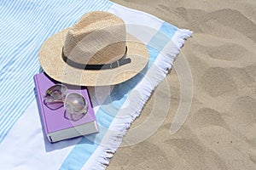
M 256 1 L 113 2 L 194 31 L 178 56 L 189 62 L 194 94 L 186 122 L 171 135 L 180 99 L 172 69 L 127 136 L 147 122 L 159 96 L 171 98 L 160 104 L 169 105 L 164 122 L 142 142 L 120 147 L 108 169 L 256 169 Z

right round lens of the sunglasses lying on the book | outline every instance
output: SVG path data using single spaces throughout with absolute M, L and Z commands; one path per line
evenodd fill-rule
M 82 118 L 88 109 L 87 102 L 81 94 L 68 94 L 64 107 L 66 109 L 66 118 L 73 121 Z

